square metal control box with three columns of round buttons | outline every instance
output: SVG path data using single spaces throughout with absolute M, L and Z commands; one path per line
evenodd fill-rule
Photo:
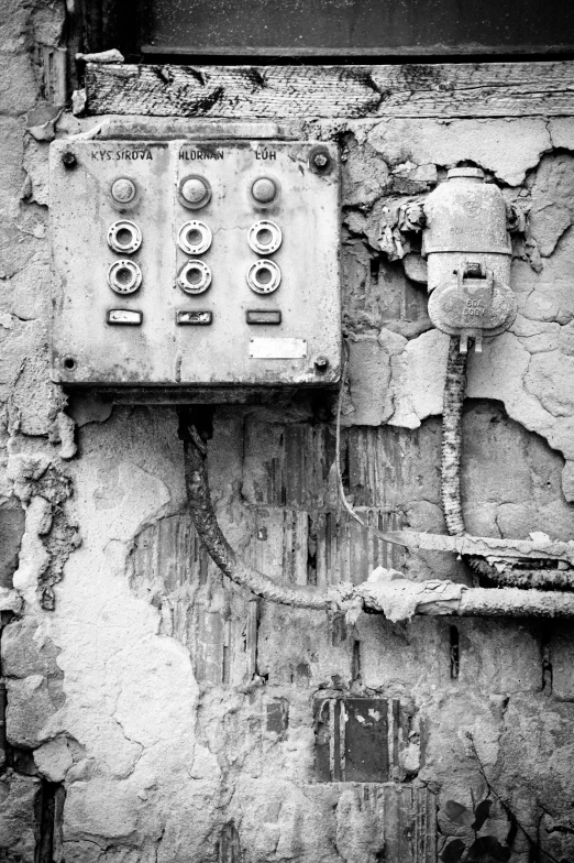
M 332 144 L 54 142 L 53 380 L 335 383 L 339 194 Z

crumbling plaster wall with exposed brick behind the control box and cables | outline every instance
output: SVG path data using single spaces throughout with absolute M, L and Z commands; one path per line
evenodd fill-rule
M 53 108 L 44 59 L 63 44 L 63 6 L 4 6 L 0 859 L 431 863 L 435 842 L 471 845 L 463 807 L 489 795 L 481 832 L 512 863 L 571 861 L 572 624 L 346 620 L 245 596 L 195 535 L 175 411 L 67 404 L 51 383 L 47 144 L 98 118 Z M 523 218 L 519 316 L 471 358 L 467 525 L 571 539 L 574 123 L 343 119 L 300 131 L 335 138 L 343 154 L 350 502 L 382 531 L 444 531 L 448 338 L 429 321 L 406 214 L 471 162 Z M 212 494 L 234 547 L 297 583 L 358 583 L 385 566 L 471 585 L 463 561 L 390 546 L 342 512 L 334 409 L 333 396 L 214 409 Z

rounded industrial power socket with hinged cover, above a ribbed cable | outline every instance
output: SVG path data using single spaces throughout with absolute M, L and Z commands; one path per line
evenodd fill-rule
M 479 168 L 449 171 L 446 183 L 426 204 L 423 254 L 429 266 L 429 316 L 450 336 L 482 348 L 484 336 L 498 336 L 517 315 L 510 288 L 511 244 L 506 204 Z

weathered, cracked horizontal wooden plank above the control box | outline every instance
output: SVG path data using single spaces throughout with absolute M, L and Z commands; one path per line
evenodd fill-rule
M 574 61 L 396 66 L 98 65 L 87 113 L 210 118 L 517 117 L 574 112 Z

